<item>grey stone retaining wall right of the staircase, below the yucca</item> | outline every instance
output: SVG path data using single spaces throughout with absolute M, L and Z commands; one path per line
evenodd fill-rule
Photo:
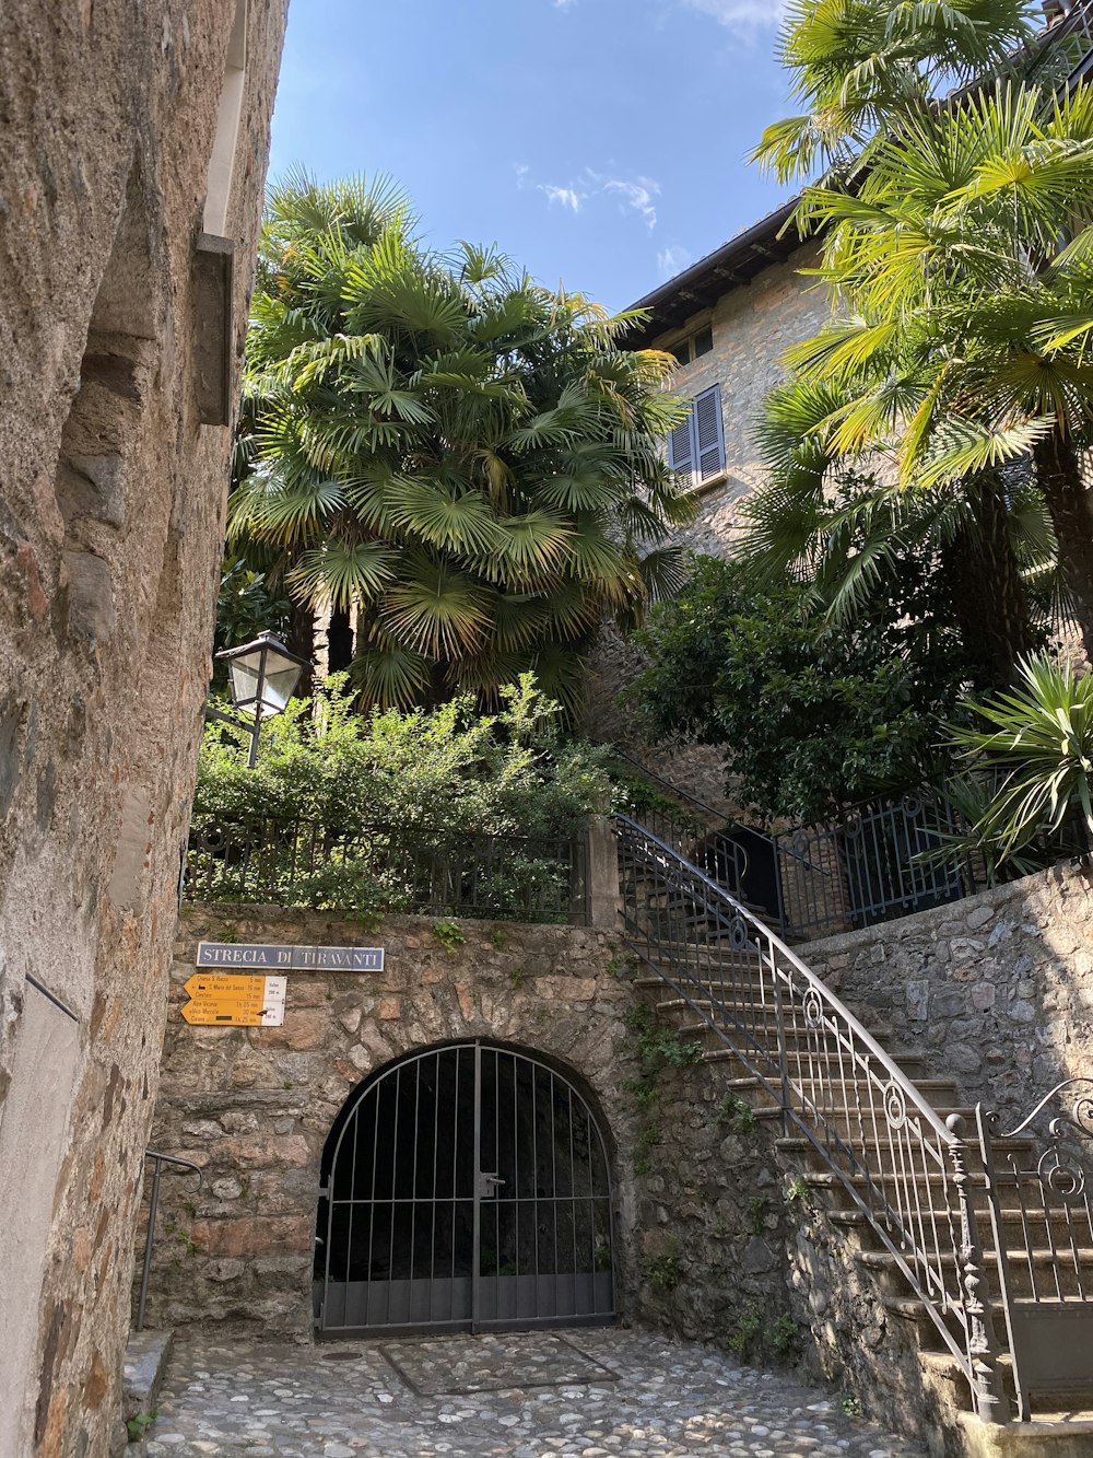
M 1057 866 L 797 948 L 858 1015 L 921 1048 L 966 1104 L 1017 1114 L 1093 1075 L 1093 886 Z

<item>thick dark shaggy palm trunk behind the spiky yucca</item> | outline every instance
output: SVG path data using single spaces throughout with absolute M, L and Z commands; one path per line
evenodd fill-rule
M 975 687 L 984 690 L 1010 682 L 1017 659 L 1036 642 L 998 481 L 979 478 L 971 502 L 976 526 L 962 532 L 944 558 L 960 636 L 981 663 Z

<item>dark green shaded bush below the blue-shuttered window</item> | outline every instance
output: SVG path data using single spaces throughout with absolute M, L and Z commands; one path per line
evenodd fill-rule
M 627 698 L 646 733 L 721 748 L 729 793 L 764 819 L 823 821 L 918 783 L 969 682 L 959 640 L 911 595 L 832 623 L 807 586 L 761 588 L 713 557 L 638 640 L 650 665 Z

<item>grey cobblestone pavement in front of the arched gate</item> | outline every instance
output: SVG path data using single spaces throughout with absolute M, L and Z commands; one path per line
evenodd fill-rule
M 520 1378 L 522 1385 L 513 1384 Z M 574 1376 L 577 1381 L 574 1382 Z M 149 1458 L 924 1458 L 832 1398 L 649 1333 L 181 1338 Z

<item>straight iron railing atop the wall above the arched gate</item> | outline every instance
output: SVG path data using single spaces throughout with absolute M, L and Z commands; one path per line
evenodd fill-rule
M 184 894 L 318 910 L 583 921 L 584 841 L 312 821 L 198 818 Z

